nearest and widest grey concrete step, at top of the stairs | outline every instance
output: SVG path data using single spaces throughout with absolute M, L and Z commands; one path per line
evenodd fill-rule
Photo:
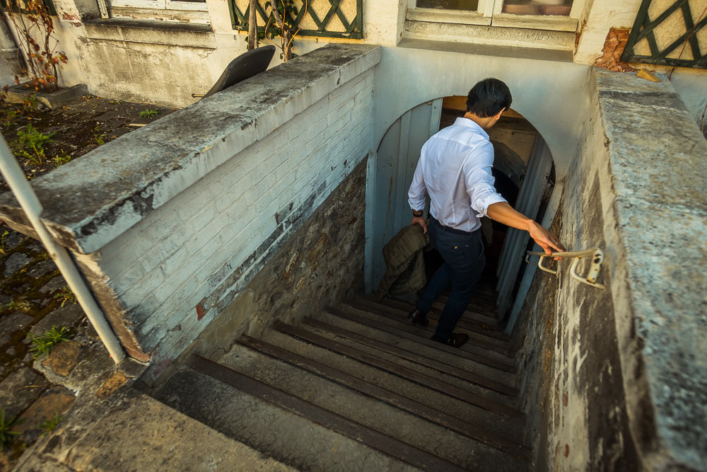
M 175 372 L 156 392 L 156 398 L 218 432 L 298 470 L 460 470 L 447 461 L 402 442 L 392 441 L 388 447 L 392 449 L 393 454 L 409 453 L 414 455 L 415 459 L 406 458 L 407 461 L 402 461 L 385 454 L 357 439 L 351 439 L 345 432 L 334 431 L 318 424 L 325 422 L 324 417 L 327 416 L 321 409 L 311 408 L 312 415 L 319 415 L 318 422 L 312 421 L 305 418 L 300 411 L 306 411 L 308 403 L 293 399 L 275 389 L 262 388 L 263 385 L 259 382 L 238 373 L 233 375 L 227 367 L 211 364 L 216 363 L 209 361 L 207 365 L 195 366 L 199 370 L 209 372 L 208 374 L 189 368 Z M 223 369 L 226 369 L 226 372 Z M 264 396 L 269 395 L 269 401 L 262 398 L 263 395 L 246 392 L 243 388 L 259 388 L 261 393 L 265 392 Z M 277 403 L 286 403 L 286 407 Z M 347 430 L 348 427 L 346 432 L 365 434 L 351 422 L 342 423 L 344 424 L 339 425 L 341 430 Z M 379 434 L 377 439 L 385 442 L 386 439 L 392 438 Z

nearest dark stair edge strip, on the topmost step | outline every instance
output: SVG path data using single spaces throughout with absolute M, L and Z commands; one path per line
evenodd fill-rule
M 407 462 L 407 464 L 411 464 L 422 470 L 464 471 L 463 468 L 445 459 L 441 459 L 438 456 L 434 456 L 433 454 L 411 446 L 399 439 L 395 439 L 387 436 L 387 434 L 361 425 L 358 422 L 344 418 L 341 415 L 337 415 L 337 413 L 320 408 L 308 401 L 281 391 L 279 388 L 263 384 L 260 381 L 252 379 L 222 364 L 218 364 L 218 362 L 207 359 L 206 357 L 192 355 L 187 359 L 186 363 L 188 367 L 197 372 L 201 372 L 201 374 L 211 376 L 223 382 L 223 384 L 238 388 L 245 393 L 249 393 L 263 401 L 277 405 L 279 408 L 288 410 L 303 418 L 307 418 L 329 430 L 355 439 L 358 442 L 366 444 L 368 447 L 382 451 L 389 456 L 395 457 L 395 459 Z

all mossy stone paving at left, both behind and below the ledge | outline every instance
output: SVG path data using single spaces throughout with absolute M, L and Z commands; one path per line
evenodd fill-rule
M 2 111 L 10 110 L 8 106 L 3 105 Z M 152 121 L 139 116 L 146 108 L 157 110 L 158 117 L 174 111 L 86 96 L 58 110 L 13 115 L 12 122 L 8 119 L 2 124 L 2 132 L 8 142 L 28 122 L 47 133 L 56 132 L 44 164 L 21 162 L 25 175 L 34 178 L 54 168 L 49 158 L 60 150 L 76 159 L 136 129 L 129 123 Z M 0 176 L 0 192 L 6 190 Z M 70 341 L 35 359 L 30 350 L 33 337 L 54 326 L 68 328 Z M 10 470 L 22 452 L 69 411 L 75 395 L 60 383 L 69 379 L 81 359 L 90 356 L 88 347 L 95 343 L 100 340 L 42 243 L 0 220 L 0 413 L 4 413 L 0 431 L 8 426 L 17 433 L 0 444 L 0 472 Z

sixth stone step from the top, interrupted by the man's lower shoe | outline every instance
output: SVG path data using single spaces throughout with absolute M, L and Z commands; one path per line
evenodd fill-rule
M 428 326 L 422 328 L 421 326 L 413 326 L 407 321 L 407 313 L 402 310 L 393 309 L 390 306 L 385 306 L 381 304 L 376 304 L 373 301 L 368 301 L 365 299 L 353 299 L 342 303 L 339 308 L 346 311 L 351 311 L 361 316 L 366 316 L 372 321 L 376 321 L 382 325 L 387 325 L 397 330 L 404 331 L 411 335 L 415 335 L 417 338 L 429 340 L 435 332 L 435 328 Z M 404 315 L 404 316 L 403 316 Z M 465 332 L 469 334 L 469 342 L 464 344 L 460 348 L 449 347 L 453 352 L 459 352 L 460 356 L 466 354 L 477 355 L 481 357 L 487 357 L 489 359 L 496 360 L 502 364 L 506 364 L 509 367 L 515 365 L 515 357 L 510 355 L 510 352 L 503 347 L 489 345 L 489 343 L 484 343 L 483 341 L 472 338 L 472 334 L 464 330 L 458 330 L 460 332 Z

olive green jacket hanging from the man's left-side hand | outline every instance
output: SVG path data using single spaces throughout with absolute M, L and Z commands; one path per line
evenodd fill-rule
M 402 295 L 416 292 L 427 283 L 423 248 L 429 238 L 421 226 L 405 226 L 383 246 L 385 275 L 375 292 L 380 300 L 386 294 Z

